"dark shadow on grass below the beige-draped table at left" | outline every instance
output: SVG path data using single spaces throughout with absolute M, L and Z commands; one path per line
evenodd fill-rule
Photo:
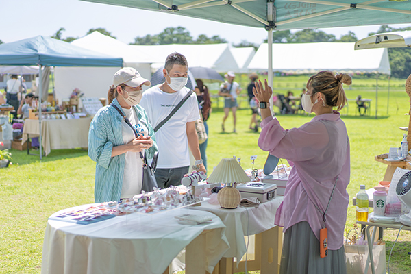
M 34 164 L 40 162 L 40 155 L 27 155 L 27 150 L 19 151 L 16 149 L 10 149 L 12 153 L 12 163 L 18 164 Z M 30 153 L 39 154 L 39 150 L 30 149 Z M 87 151 L 85 149 L 53 149 L 47 156 L 43 156 L 41 162 L 51 162 L 61 159 L 77 158 L 86 156 Z

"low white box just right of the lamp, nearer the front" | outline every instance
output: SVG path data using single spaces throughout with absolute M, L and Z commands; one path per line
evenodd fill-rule
M 262 182 L 249 182 L 237 186 L 241 197 L 257 197 L 260 203 L 270 201 L 277 196 L 277 185 Z

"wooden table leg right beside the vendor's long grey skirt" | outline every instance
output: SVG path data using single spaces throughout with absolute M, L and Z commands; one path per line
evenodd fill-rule
M 282 227 L 273 227 L 261 235 L 261 274 L 279 273 L 282 253 Z

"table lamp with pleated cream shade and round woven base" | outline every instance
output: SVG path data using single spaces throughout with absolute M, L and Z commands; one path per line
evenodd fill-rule
M 237 208 L 241 201 L 241 195 L 234 183 L 250 182 L 250 178 L 238 164 L 236 158 L 223 158 L 208 177 L 207 182 L 208 184 L 225 184 L 225 188 L 217 194 L 221 208 Z

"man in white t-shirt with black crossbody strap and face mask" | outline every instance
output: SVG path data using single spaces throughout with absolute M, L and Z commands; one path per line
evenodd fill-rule
M 146 90 L 140 101 L 154 128 L 169 116 L 173 108 L 190 92 L 190 89 L 185 87 L 188 63 L 184 55 L 172 53 L 167 56 L 163 73 L 165 82 Z M 181 179 L 188 173 L 190 166 L 188 148 L 196 160 L 195 167 L 206 172 L 195 129 L 195 121 L 199 118 L 197 96 L 192 92 L 182 107 L 155 133 L 158 145 L 155 179 L 160 188 L 181 184 Z

